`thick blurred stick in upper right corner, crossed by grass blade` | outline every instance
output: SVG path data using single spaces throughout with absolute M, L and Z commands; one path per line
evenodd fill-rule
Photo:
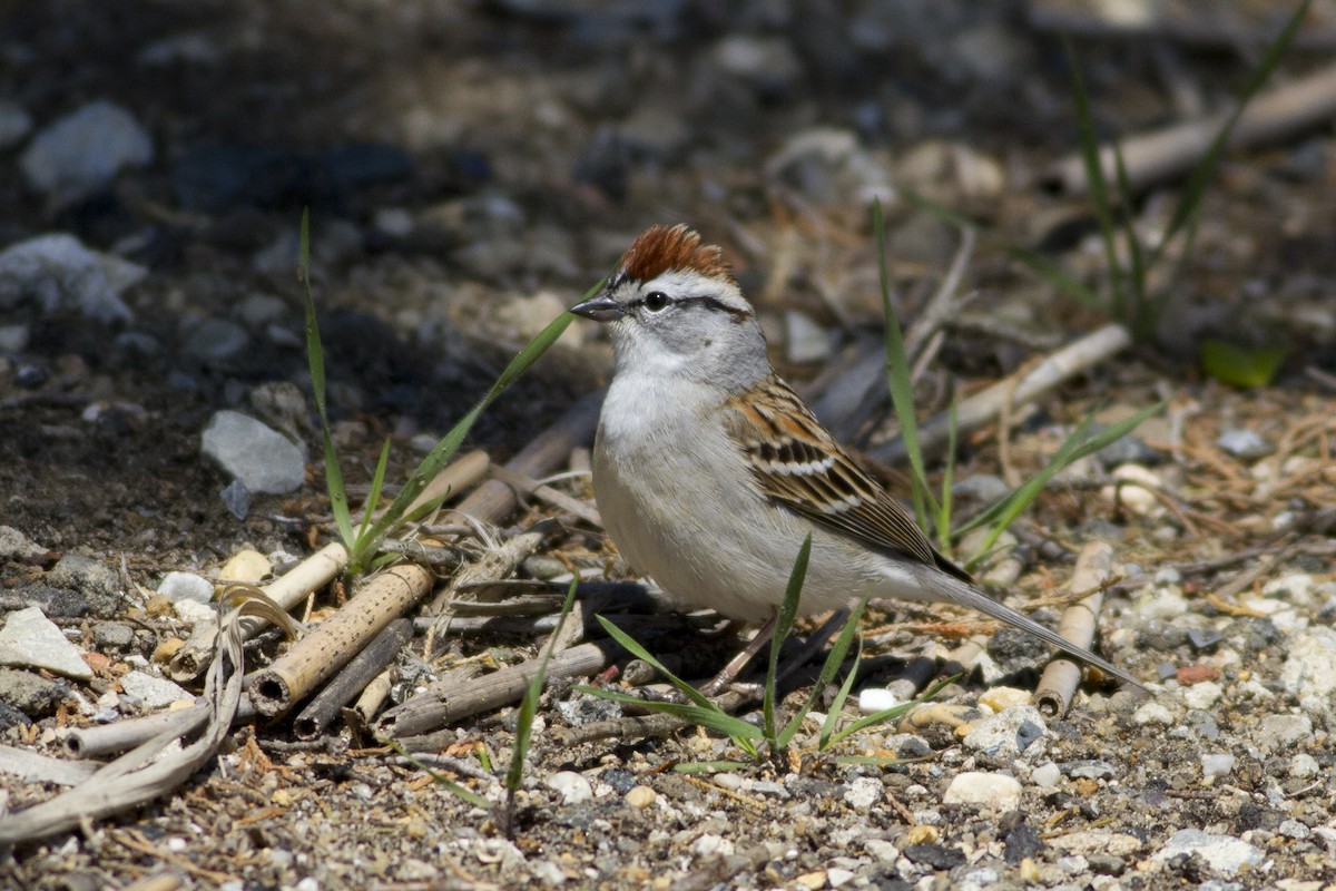
M 1229 147 L 1253 148 L 1277 142 L 1328 122 L 1333 114 L 1336 65 L 1328 65 L 1256 96 L 1234 124 Z M 1218 114 L 1124 140 L 1122 160 L 1132 188 L 1141 190 L 1192 170 L 1228 120 L 1228 112 Z M 1116 182 L 1112 146 L 1100 150 L 1100 166 L 1104 168 L 1105 182 Z M 1057 182 L 1071 194 L 1085 194 L 1088 190 L 1085 162 L 1079 152 L 1057 162 L 1045 179 Z

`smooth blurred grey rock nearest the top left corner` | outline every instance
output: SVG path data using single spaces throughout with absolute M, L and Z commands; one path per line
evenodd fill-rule
M 134 115 L 92 102 L 37 134 L 19 167 L 32 188 L 69 203 L 96 192 L 123 168 L 152 159 L 152 139 Z

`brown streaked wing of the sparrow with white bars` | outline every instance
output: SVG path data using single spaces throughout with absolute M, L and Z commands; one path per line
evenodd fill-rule
M 729 434 L 767 496 L 872 548 L 962 574 L 938 556 L 908 513 L 854 464 L 784 381 L 772 375 L 729 401 Z

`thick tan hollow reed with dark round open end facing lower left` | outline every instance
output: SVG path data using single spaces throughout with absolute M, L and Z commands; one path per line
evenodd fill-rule
M 434 581 L 414 564 L 390 566 L 363 581 L 342 609 L 255 675 L 250 695 L 257 711 L 274 717 L 299 703 L 425 597 Z

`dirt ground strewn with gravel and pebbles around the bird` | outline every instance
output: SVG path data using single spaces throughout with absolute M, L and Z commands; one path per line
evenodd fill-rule
M 151 602 L 166 573 L 216 577 L 242 548 L 299 558 L 334 540 L 302 349 L 303 207 L 354 504 L 386 437 L 393 484 L 652 223 L 688 222 L 724 246 L 776 366 L 815 393 L 824 370 L 851 362 L 882 329 L 871 199 L 886 202 L 906 325 L 962 236 L 899 190 L 971 220 L 979 236 L 958 286 L 971 297 L 919 379 L 919 417 L 1109 322 L 1108 303 L 1062 293 L 1010 250 L 1109 293 L 1090 202 L 1046 175 L 1078 144 L 1053 25 L 1062 7 L 0 5 L 0 103 L 32 126 L 0 148 L 9 171 L 0 250 L 67 232 L 147 270 L 112 321 L 44 302 L 36 286 L 0 303 L 0 525 L 37 545 L 0 557 L 0 620 L 43 605 L 99 672 L 59 681 L 64 697 L 45 707 L 0 700 L 0 744 L 56 755 L 61 732 L 95 720 L 108 692 L 134 712 L 115 696 L 118 679 L 130 665 L 159 671 L 159 647 L 188 633 Z M 1075 57 L 1101 136 L 1233 107 L 1284 19 L 1268 4 L 1225 8 L 1132 32 L 1083 19 Z M 1271 85 L 1329 63 L 1331 13 L 1315 4 Z M 21 172 L 24 152 L 95 100 L 132 115 L 151 160 L 73 200 L 36 187 Z M 1165 231 L 1185 179 L 1137 191 L 1129 210 L 1142 238 Z M 303 891 L 1332 887 L 1333 231 L 1329 118 L 1230 152 L 1192 238 L 1150 269 L 1144 337 L 1017 409 L 1005 435 L 990 423 L 963 438 L 955 480 L 1014 482 L 1086 414 L 1112 422 L 1164 402 L 1116 452 L 1063 473 L 1017 524 L 1014 581 L 1002 594 L 1017 606 L 1041 600 L 1037 614 L 1053 618 L 1074 554 L 1109 541 L 1124 581 L 1101 616 L 1102 652 L 1152 687 L 1149 700 L 1096 684 L 1065 717 L 1042 721 L 1023 751 L 965 743 L 961 721 L 1001 708 L 989 687 L 1033 689 L 1046 656 L 998 632 L 982 673 L 947 691 L 973 712 L 874 727 L 832 752 L 803 736 L 787 763 L 711 775 L 675 768 L 741 755 L 691 729 L 560 745 L 556 729 L 589 700 L 557 685 L 538 712 L 513 839 L 496 811 L 387 748 L 346 731 L 301 745 L 290 720 L 244 724 L 172 795 L 0 855 L 0 884 L 126 888 L 163 872 L 174 884 L 162 887 Z M 218 322 L 226 326 L 208 327 Z M 236 338 L 228 350 L 223 334 Z M 1284 358 L 1260 386 L 1233 386 L 1204 370 L 1209 341 Z M 512 457 L 607 381 L 609 357 L 593 326 L 577 322 L 484 414 L 470 445 Z M 257 390 L 282 382 L 307 398 L 295 422 L 307 478 L 289 494 L 254 496 L 238 518 L 200 433 L 219 409 L 263 415 Z M 883 399 L 842 435 L 875 457 L 891 431 Z M 1256 450 L 1233 445 L 1245 433 Z M 1144 497 L 1128 494 L 1129 481 L 1146 486 Z M 593 502 L 587 477 L 553 486 Z M 502 537 L 542 516 L 562 522 L 540 557 L 585 576 L 628 574 L 600 529 L 541 500 L 510 516 Z M 110 600 L 53 574 L 69 554 L 110 568 Z M 314 606 L 342 596 L 327 592 Z M 108 625 L 128 625 L 130 643 L 108 644 Z M 959 612 L 879 612 L 867 620 L 867 656 L 884 681 L 989 631 Z M 700 649 L 695 632 L 665 635 L 661 652 Z M 406 680 L 395 695 L 466 661 L 514 664 L 540 643 L 461 637 L 425 663 L 420 637 L 418 655 L 399 660 Z M 267 637 L 248 659 L 278 647 Z M 510 707 L 457 721 L 454 741 L 422 757 L 500 801 L 514 725 Z M 1014 777 L 1019 797 L 953 797 L 953 784 L 977 772 Z M 0 773 L 0 814 L 57 791 Z M 1210 842 L 1194 847 L 1192 832 Z

